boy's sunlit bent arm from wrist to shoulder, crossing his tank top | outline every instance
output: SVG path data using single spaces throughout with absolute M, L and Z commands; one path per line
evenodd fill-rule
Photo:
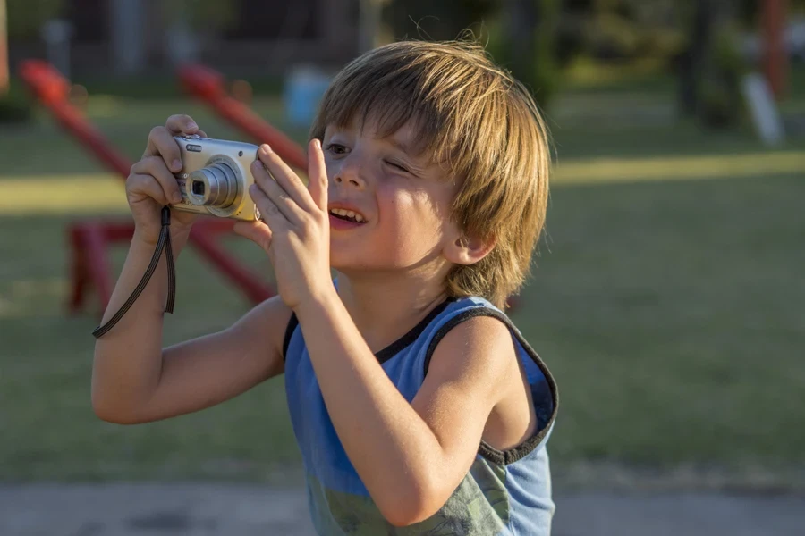
M 435 514 L 469 471 L 511 380 L 509 331 L 487 317 L 453 328 L 409 404 L 335 291 L 296 314 L 335 431 L 381 513 L 398 526 Z

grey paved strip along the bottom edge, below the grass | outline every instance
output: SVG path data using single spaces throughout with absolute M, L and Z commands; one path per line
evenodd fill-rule
M 576 493 L 554 536 L 802 536 L 805 497 Z M 2 536 L 313 536 L 299 488 L 245 484 L 0 484 Z

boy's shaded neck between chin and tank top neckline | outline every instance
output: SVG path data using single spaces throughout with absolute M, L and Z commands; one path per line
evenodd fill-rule
M 338 273 L 338 295 L 373 353 L 400 339 L 445 301 L 445 286 L 428 280 L 409 274 Z

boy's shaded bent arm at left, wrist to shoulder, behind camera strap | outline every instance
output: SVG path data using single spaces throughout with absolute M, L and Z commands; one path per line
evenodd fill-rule
M 185 239 L 174 237 L 174 249 L 181 250 Z M 132 239 L 102 323 L 131 294 L 153 253 L 153 245 Z M 165 271 L 163 255 L 131 309 L 96 342 L 92 407 L 105 421 L 146 423 L 191 413 L 283 372 L 282 341 L 291 309 L 279 297 L 225 331 L 163 349 Z

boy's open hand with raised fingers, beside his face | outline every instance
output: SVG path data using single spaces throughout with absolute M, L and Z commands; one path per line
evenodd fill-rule
M 249 193 L 262 221 L 234 225 L 236 233 L 266 250 L 280 297 L 292 309 L 333 288 L 327 171 L 318 139 L 309 143 L 308 162 L 305 188 L 279 155 L 260 146 L 251 166 L 254 184 Z

